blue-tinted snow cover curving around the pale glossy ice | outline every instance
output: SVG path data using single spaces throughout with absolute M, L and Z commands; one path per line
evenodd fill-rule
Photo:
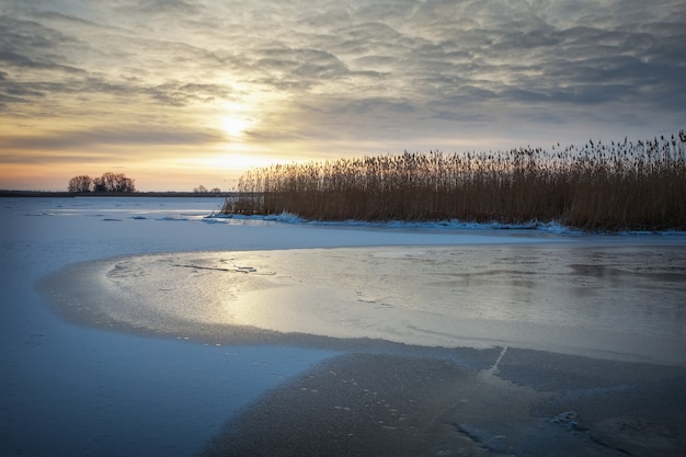
M 0 198 L 0 455 L 187 456 L 241 408 L 335 352 L 211 345 L 78 327 L 36 282 L 135 254 L 336 247 L 578 243 L 556 225 L 309 222 L 208 217 L 215 198 Z M 582 237 L 587 244 L 607 240 Z M 632 235 L 613 242 L 663 242 Z M 684 243 L 672 235 L 670 243 Z M 637 241 L 638 240 L 638 241 Z M 686 243 L 684 243 L 686 244 Z

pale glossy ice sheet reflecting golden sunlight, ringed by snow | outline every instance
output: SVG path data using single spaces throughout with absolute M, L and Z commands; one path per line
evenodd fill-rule
M 236 339 L 226 325 L 251 325 L 686 364 L 678 350 L 686 342 L 684 265 L 686 250 L 660 247 L 142 255 L 101 263 L 99 281 L 111 296 L 99 311 L 141 329 L 202 329 L 220 342 Z

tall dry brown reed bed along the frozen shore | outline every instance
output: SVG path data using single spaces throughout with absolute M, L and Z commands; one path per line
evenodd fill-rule
M 244 173 L 224 214 L 310 220 L 558 221 L 584 230 L 686 229 L 686 133 L 498 152 L 385 155 Z

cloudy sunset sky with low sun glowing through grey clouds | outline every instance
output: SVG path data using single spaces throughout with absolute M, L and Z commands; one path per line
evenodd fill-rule
M 684 43 L 683 0 L 0 0 L 0 188 L 676 134 Z

